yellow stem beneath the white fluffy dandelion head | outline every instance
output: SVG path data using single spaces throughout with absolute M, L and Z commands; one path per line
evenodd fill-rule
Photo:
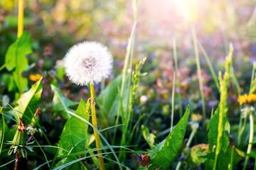
M 96 119 L 96 113 L 95 113 L 95 90 L 94 90 L 94 84 L 90 84 L 90 95 L 92 100 L 91 103 L 91 111 L 92 111 L 92 125 L 97 128 L 97 119 Z M 93 129 L 94 135 L 95 135 L 95 142 L 96 142 L 96 147 L 99 149 L 100 148 L 100 136 L 97 133 L 95 129 Z M 97 150 L 97 154 L 101 154 L 102 150 Z M 105 170 L 105 164 L 103 161 L 102 156 L 98 157 L 99 159 L 99 164 L 100 164 L 100 170 Z

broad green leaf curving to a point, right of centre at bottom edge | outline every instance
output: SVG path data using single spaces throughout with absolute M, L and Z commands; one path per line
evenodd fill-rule
M 149 166 L 150 170 L 159 166 L 163 169 L 169 169 L 183 142 L 189 115 L 190 107 L 188 106 L 186 112 L 181 120 L 179 120 L 174 130 L 172 130 L 168 137 L 166 137 L 164 146 L 159 150 L 159 152 L 156 152 L 154 157 L 151 158 L 151 166 Z

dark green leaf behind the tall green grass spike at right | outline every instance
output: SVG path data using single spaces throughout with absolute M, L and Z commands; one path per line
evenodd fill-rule
M 207 125 L 208 130 L 208 141 L 209 141 L 209 150 L 212 152 L 213 145 L 216 145 L 217 143 L 217 137 L 218 137 L 218 120 L 219 120 L 219 113 L 220 108 L 218 107 L 213 114 L 213 117 L 210 118 L 210 122 Z M 228 128 L 230 128 L 230 125 L 228 123 L 228 118 L 224 118 L 225 121 L 225 130 L 229 131 Z M 223 135 L 220 139 L 220 143 L 223 146 L 223 151 L 225 152 L 228 148 L 228 136 L 225 134 L 225 131 L 223 132 Z

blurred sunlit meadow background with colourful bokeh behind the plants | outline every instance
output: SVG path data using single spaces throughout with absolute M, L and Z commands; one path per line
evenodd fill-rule
M 138 6 L 133 62 L 137 64 L 143 57 L 147 57 L 143 72 L 148 74 L 142 77 L 135 113 L 146 113 L 153 107 L 152 104 L 157 103 L 156 114 L 169 118 L 174 73 L 174 38 L 177 44 L 178 79 L 181 84 L 183 110 L 191 103 L 192 112 L 201 113 L 192 28 L 195 28 L 198 42 L 210 57 L 216 74 L 219 70 L 224 70 L 228 46 L 230 42 L 233 43 L 234 74 L 242 94 L 248 91 L 252 63 L 256 61 L 255 1 L 140 0 Z M 18 1 L 1 0 L 0 7 L 2 65 L 9 45 L 17 37 Z M 56 75 L 58 86 L 67 98 L 73 101 L 86 98 L 87 88 L 71 84 L 65 77 L 61 62 L 70 47 L 84 40 L 96 40 L 109 47 L 114 56 L 114 72 L 110 80 L 122 72 L 133 23 L 132 1 L 26 0 L 24 16 L 24 30 L 31 35 L 33 41 L 33 54 L 28 56 L 29 64 L 33 67 L 29 72 L 24 72 L 23 77 L 29 77 L 29 74 L 43 74 L 48 70 L 50 74 Z M 206 111 L 210 115 L 211 109 L 218 105 L 219 94 L 201 49 L 199 56 Z M 15 89 L 8 86 L 10 80 L 6 81 L 4 74 L 8 73 L 1 73 L 1 98 L 5 96 L 9 101 L 13 101 L 15 96 L 11 96 L 10 91 Z M 53 79 L 52 77 L 45 81 L 51 82 Z M 106 81 L 106 85 L 110 80 Z M 33 83 L 31 80 L 30 84 Z M 232 106 L 229 114 L 230 121 L 233 121 L 233 116 L 239 117 L 238 93 L 234 81 L 230 88 L 233 90 L 229 92 L 228 104 Z M 50 87 L 48 90 L 45 87 L 42 95 L 46 106 L 50 106 L 50 103 L 47 104 L 47 98 L 50 101 L 49 98 L 53 95 L 49 91 Z M 100 85 L 96 86 L 96 92 L 100 93 Z M 178 89 L 176 95 L 177 93 Z M 175 103 L 177 113 L 178 101 Z M 51 112 L 50 108 L 48 111 Z M 153 129 L 161 131 L 168 127 L 169 120 L 165 125 L 162 124 L 164 121 L 165 119 L 152 121 Z M 235 121 L 238 122 L 238 119 Z

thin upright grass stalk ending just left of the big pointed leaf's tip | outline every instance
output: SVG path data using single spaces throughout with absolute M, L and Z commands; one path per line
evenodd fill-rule
M 183 111 L 182 111 L 182 102 L 181 102 L 181 84 L 180 84 L 180 80 L 178 79 L 178 57 L 177 57 L 176 38 L 173 39 L 173 46 L 174 46 L 174 68 L 175 68 L 176 82 L 177 82 L 177 88 L 178 88 L 178 111 L 179 111 L 180 118 L 182 118 Z

